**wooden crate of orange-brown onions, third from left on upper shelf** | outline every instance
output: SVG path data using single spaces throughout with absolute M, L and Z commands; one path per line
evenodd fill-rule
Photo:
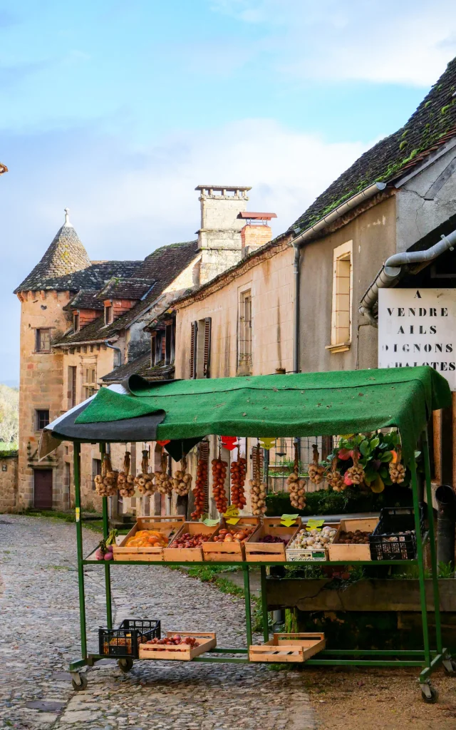
M 245 560 L 245 541 L 260 524 L 258 517 L 240 517 L 236 525 L 226 520 L 217 528 L 215 535 L 203 543 L 204 560 L 218 562 L 241 562 Z

